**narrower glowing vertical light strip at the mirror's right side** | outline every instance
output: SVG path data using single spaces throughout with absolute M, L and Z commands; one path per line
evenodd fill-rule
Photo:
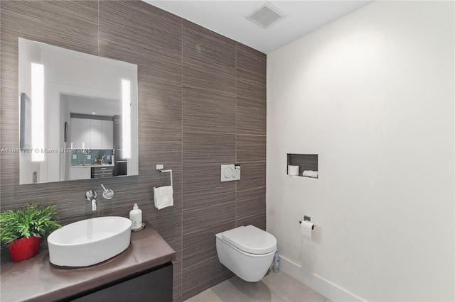
M 131 158 L 131 83 L 122 79 L 122 157 Z

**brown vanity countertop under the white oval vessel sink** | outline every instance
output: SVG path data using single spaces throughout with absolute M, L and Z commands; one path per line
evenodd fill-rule
M 54 267 L 48 250 L 22 262 L 1 264 L 0 301 L 55 301 L 170 262 L 176 252 L 149 223 L 145 225 L 132 232 L 127 250 L 92 267 Z

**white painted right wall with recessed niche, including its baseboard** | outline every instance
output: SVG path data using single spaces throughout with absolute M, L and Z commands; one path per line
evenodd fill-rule
M 454 51 L 453 1 L 375 1 L 267 55 L 267 230 L 328 298 L 455 300 Z

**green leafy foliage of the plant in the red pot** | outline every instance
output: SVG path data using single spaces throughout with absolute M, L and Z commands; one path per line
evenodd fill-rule
M 10 245 L 19 238 L 43 237 L 62 227 L 57 220 L 57 206 L 28 204 L 16 211 L 4 211 L 0 213 L 0 240 Z

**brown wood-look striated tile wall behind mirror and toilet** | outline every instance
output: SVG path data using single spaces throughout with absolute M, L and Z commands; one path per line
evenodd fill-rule
M 18 185 L 16 154 L 0 157 L 1 211 L 40 201 L 61 223 L 128 216 L 139 203 L 177 252 L 174 301 L 232 276 L 218 262 L 215 233 L 265 228 L 266 55 L 143 1 L 0 1 L 0 147 L 18 147 L 18 38 L 138 65 L 139 176 L 103 179 L 114 198 L 90 211 L 97 179 Z M 220 182 L 220 164 L 242 164 L 240 181 Z M 168 184 L 174 206 L 154 208 Z M 2 249 L 2 253 L 5 249 Z M 2 257 L 2 260 L 7 257 Z

